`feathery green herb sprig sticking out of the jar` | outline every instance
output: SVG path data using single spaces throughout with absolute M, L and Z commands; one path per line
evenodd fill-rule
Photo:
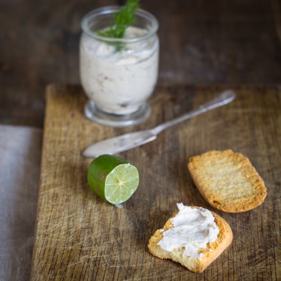
M 126 29 L 135 22 L 135 10 L 137 8 L 139 8 L 138 0 L 128 0 L 120 12 L 113 15 L 114 22 L 108 28 L 96 30 L 96 33 L 104 37 L 123 38 Z M 117 51 L 122 49 L 120 42 L 113 42 L 113 44 L 116 45 Z

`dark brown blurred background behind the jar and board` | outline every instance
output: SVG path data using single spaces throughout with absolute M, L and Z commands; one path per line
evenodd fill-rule
M 278 0 L 142 0 L 160 25 L 160 84 L 280 83 Z M 0 123 L 43 126 L 48 83 L 79 83 L 80 19 L 124 1 L 0 0 Z

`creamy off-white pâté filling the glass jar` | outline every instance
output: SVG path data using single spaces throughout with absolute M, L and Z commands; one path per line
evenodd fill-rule
M 143 36 L 146 29 L 129 27 L 125 39 Z M 104 112 L 130 114 L 145 103 L 154 90 L 158 74 L 157 35 L 114 45 L 83 34 L 80 43 L 80 76 L 90 100 Z

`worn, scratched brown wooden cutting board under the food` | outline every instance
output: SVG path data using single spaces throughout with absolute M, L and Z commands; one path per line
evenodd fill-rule
M 234 87 L 237 99 L 167 129 L 154 142 L 120 156 L 140 174 L 135 194 L 117 208 L 88 187 L 93 142 L 151 128 L 189 111 L 225 89 L 158 87 L 144 124 L 113 129 L 88 121 L 80 86 L 48 86 L 32 280 L 277 280 L 281 278 L 281 90 Z M 248 156 L 265 181 L 265 202 L 245 213 L 212 208 L 186 168 L 189 157 L 232 149 Z M 233 242 L 203 273 L 193 273 L 148 251 L 150 236 L 176 211 L 176 203 L 222 216 Z

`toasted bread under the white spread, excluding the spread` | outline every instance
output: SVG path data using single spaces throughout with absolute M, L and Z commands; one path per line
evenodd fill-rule
M 198 207 L 194 207 L 198 208 Z M 168 230 L 174 227 L 171 219 L 177 215 L 176 212 L 164 225 L 163 230 Z M 174 262 L 178 262 L 193 272 L 202 272 L 210 263 L 215 261 L 217 257 L 231 244 L 232 231 L 228 223 L 219 215 L 211 212 L 215 218 L 215 222 L 219 227 L 219 234 L 217 240 L 211 244 L 207 244 L 206 249 L 200 249 L 200 253 L 204 253 L 201 259 L 190 259 L 190 256 L 184 255 L 184 247 L 173 249 L 171 252 L 163 250 L 157 243 L 163 238 L 163 231 L 158 229 L 154 235 L 150 238 L 148 243 L 149 251 L 160 259 L 171 259 Z

